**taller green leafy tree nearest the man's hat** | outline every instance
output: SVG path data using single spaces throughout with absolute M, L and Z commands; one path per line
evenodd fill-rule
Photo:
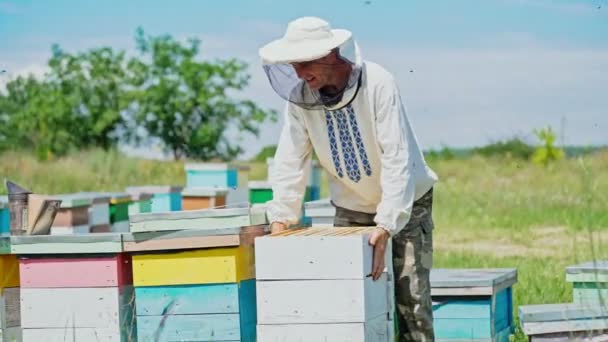
M 131 113 L 147 134 L 131 136 L 137 144 L 158 138 L 174 159 L 227 160 L 242 152 L 228 129 L 257 136 L 261 123 L 276 120 L 274 111 L 228 95 L 248 85 L 246 64 L 199 61 L 196 39 L 182 44 L 169 35 L 146 36 L 140 28 L 136 42 L 145 60 L 133 58 L 128 65 Z

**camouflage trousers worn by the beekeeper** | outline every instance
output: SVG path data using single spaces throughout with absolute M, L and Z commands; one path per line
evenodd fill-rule
M 433 265 L 433 189 L 414 202 L 412 215 L 392 239 L 398 341 L 434 341 L 430 271 Z M 375 226 L 375 214 L 336 206 L 334 226 Z

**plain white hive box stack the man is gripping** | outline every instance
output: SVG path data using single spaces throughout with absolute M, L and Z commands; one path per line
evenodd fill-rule
M 392 341 L 392 273 L 368 276 L 373 229 L 294 229 L 257 238 L 258 340 Z

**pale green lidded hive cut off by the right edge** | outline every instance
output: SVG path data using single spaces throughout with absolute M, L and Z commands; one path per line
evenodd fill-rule
M 566 281 L 572 283 L 574 303 L 608 303 L 608 260 L 566 267 Z

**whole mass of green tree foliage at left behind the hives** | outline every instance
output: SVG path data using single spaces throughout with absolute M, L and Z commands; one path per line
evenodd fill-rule
M 71 54 L 53 45 L 46 75 L 10 80 L 0 92 L 0 151 L 34 150 L 48 160 L 156 139 L 175 159 L 225 160 L 242 151 L 231 130 L 257 136 L 262 122 L 276 120 L 274 111 L 229 95 L 248 85 L 244 63 L 198 61 L 193 39 L 181 44 L 139 29 L 135 41 L 141 56 L 128 61 L 110 47 Z

